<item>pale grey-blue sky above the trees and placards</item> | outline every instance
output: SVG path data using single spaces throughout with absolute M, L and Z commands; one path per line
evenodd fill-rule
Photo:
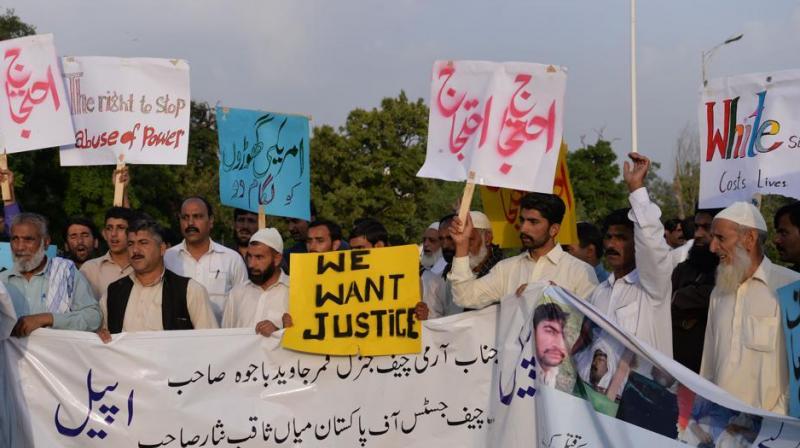
M 630 2 L 542 0 L 15 0 L 63 56 L 181 58 L 192 97 L 344 124 L 404 90 L 429 104 L 438 59 L 568 69 L 570 148 L 630 149 Z M 674 170 L 697 129 L 701 53 L 709 78 L 800 68 L 800 0 L 637 2 L 639 151 Z

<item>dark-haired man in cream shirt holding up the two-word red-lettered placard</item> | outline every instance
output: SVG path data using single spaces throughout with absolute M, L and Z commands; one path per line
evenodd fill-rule
M 550 281 L 578 297 L 586 297 L 597 285 L 594 269 L 556 244 L 565 210 L 564 202 L 554 194 L 523 196 L 520 239 L 526 250 L 500 261 L 481 278 L 477 278 L 469 266 L 472 219 L 468 216 L 462 226 L 458 217 L 453 218 L 450 235 L 455 244 L 455 257 L 448 274 L 453 301 L 465 308 L 483 308 L 511 293 L 521 292 L 528 282 L 534 281 Z

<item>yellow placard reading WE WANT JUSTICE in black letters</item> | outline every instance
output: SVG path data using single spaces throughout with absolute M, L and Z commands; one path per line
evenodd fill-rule
M 325 355 L 419 353 L 414 245 L 292 254 L 284 348 Z

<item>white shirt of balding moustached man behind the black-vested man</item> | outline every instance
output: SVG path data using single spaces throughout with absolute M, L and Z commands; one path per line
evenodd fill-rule
M 198 261 L 186 250 L 186 240 L 183 240 L 167 249 L 164 264 L 170 271 L 189 277 L 206 288 L 218 324 L 222 321 L 228 292 L 247 280 L 247 266 L 242 256 L 214 241 L 210 241 L 208 252 Z

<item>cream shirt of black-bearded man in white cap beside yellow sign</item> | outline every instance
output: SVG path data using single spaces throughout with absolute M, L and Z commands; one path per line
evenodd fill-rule
M 228 294 L 222 328 L 255 328 L 262 320 L 283 328 L 283 314 L 288 312 L 288 275 L 281 272 L 278 281 L 267 289 L 246 280 Z

